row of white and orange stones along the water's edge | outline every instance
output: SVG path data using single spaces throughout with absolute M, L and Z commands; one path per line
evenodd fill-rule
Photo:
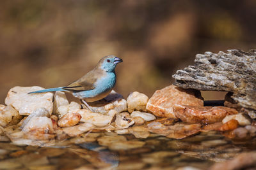
M 13 143 L 51 145 L 56 140 L 108 131 L 148 138 L 150 132 L 182 139 L 202 131 L 220 131 L 228 138 L 256 134 L 255 122 L 224 106 L 204 106 L 200 91 L 170 85 L 148 99 L 132 92 L 125 100 L 115 91 L 90 103 L 68 101 L 64 92 L 28 94 L 42 87 L 14 87 L 0 107 L 0 125 Z M 3 136 L 3 135 L 2 135 Z M 40 142 L 38 142 L 40 141 Z

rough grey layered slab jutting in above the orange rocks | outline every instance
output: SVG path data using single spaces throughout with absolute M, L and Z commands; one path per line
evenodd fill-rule
M 195 66 L 178 70 L 175 85 L 186 89 L 232 92 L 240 106 L 256 110 L 256 50 L 197 54 Z

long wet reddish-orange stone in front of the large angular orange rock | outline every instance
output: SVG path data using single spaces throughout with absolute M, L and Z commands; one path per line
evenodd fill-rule
M 175 105 L 173 107 L 175 116 L 186 123 L 213 124 L 221 122 L 227 115 L 237 114 L 237 110 L 224 106 L 184 106 Z M 223 122 L 225 124 L 225 122 Z

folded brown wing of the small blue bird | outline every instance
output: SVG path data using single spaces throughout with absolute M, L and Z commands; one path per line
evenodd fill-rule
M 95 82 L 98 78 L 102 76 L 102 74 L 104 74 L 102 73 L 102 71 L 93 69 L 93 71 L 90 71 L 89 73 L 85 74 L 82 78 L 80 78 L 77 81 L 74 81 L 67 87 L 63 87 L 63 89 L 75 91 L 95 89 Z

